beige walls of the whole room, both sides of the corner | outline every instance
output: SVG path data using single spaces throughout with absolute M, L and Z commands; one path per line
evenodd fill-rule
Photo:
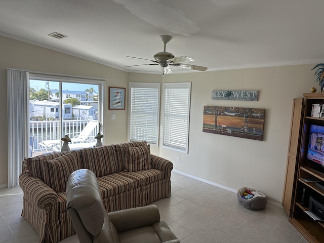
M 310 65 L 250 68 L 186 74 L 127 73 L 91 61 L 0 36 L 0 102 L 7 111 L 6 68 L 105 77 L 107 86 L 125 87 L 128 82 L 191 82 L 189 153 L 152 147 L 152 153 L 168 158 L 174 169 L 213 183 L 238 189 L 242 186 L 262 191 L 281 202 L 291 121 L 292 102 L 310 91 L 315 83 Z M 162 86 L 161 86 L 162 88 Z M 258 101 L 217 101 L 212 90 L 258 90 Z M 126 99 L 126 106 L 128 98 Z M 202 132 L 204 105 L 265 108 L 264 139 L 256 141 Z M 116 120 L 110 119 L 116 114 Z M 105 110 L 105 144 L 125 142 L 127 109 Z M 7 119 L 0 120 L 0 186 L 8 181 Z M 180 163 L 176 163 L 180 157 Z

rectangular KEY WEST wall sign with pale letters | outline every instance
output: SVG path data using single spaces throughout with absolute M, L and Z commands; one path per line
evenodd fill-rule
M 213 90 L 212 100 L 248 100 L 257 101 L 257 90 Z

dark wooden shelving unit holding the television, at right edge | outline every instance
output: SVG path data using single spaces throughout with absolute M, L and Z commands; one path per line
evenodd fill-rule
M 320 243 L 324 242 L 324 223 L 314 221 L 304 211 L 309 210 L 307 200 L 309 200 L 310 195 L 319 198 L 320 203 L 324 204 L 324 191 L 316 187 L 315 182 L 307 182 L 303 179 L 313 179 L 324 182 L 323 170 L 321 170 L 321 168 L 314 167 L 314 163 L 307 159 L 310 126 L 324 126 L 324 118 L 310 116 L 312 104 L 324 104 L 324 93 L 310 93 L 303 94 L 303 96 L 304 112 L 302 112 L 301 116 L 302 126 L 299 131 L 293 131 L 291 129 L 291 133 L 300 133 L 300 141 L 298 143 L 299 156 L 296 158 L 296 168 L 293 177 L 294 182 L 291 208 L 290 210 L 286 209 L 286 211 L 288 211 L 290 214 L 289 221 L 309 242 Z M 286 174 L 286 177 L 287 176 L 288 174 Z M 286 180 L 286 184 L 288 181 L 289 180 Z M 303 190 L 307 191 L 307 198 L 305 199 L 304 197 L 306 204 L 302 203 Z M 305 207 L 305 205 L 307 207 Z

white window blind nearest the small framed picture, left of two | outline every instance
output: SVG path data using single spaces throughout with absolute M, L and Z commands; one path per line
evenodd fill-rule
M 129 141 L 158 145 L 160 84 L 130 83 Z

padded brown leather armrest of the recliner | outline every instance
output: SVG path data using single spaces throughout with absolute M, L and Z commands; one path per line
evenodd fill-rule
M 117 232 L 122 232 L 152 225 L 160 220 L 160 214 L 155 205 L 150 205 L 110 212 L 108 218 Z

